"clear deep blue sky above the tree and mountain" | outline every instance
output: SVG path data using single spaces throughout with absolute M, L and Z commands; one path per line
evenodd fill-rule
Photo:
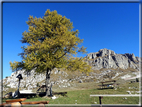
M 19 40 L 29 15 L 42 17 L 47 9 L 73 22 L 88 53 L 107 48 L 139 56 L 139 3 L 3 3 L 3 78 L 12 73 L 10 61 L 22 60 Z

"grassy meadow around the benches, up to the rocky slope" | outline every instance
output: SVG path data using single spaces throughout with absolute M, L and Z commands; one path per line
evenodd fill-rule
M 120 81 L 122 82 L 122 81 Z M 138 91 L 139 83 L 125 82 L 121 83 L 117 90 L 115 89 L 104 89 L 98 90 L 97 85 L 94 82 L 89 83 L 78 83 L 72 88 L 58 88 L 56 85 L 53 86 L 53 91 L 55 92 L 67 92 L 67 96 L 55 95 L 57 99 L 51 99 L 50 97 L 36 97 L 30 98 L 26 101 L 50 101 L 49 104 L 99 104 L 99 97 L 90 97 L 90 95 L 100 95 L 100 94 L 116 94 L 116 97 L 104 96 L 102 99 L 102 104 L 139 104 L 139 97 L 125 97 L 119 96 L 117 94 L 127 94 L 126 91 Z M 129 89 L 129 87 L 135 87 L 134 89 Z M 134 93 L 135 94 L 135 93 Z M 7 99 L 3 99 L 5 102 Z

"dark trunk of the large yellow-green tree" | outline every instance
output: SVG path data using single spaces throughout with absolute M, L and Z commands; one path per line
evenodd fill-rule
M 50 84 L 50 73 L 51 73 L 51 70 L 47 68 L 46 80 L 45 80 L 46 96 L 52 96 L 52 85 Z

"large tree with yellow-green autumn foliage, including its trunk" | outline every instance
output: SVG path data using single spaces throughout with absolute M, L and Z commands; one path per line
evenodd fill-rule
M 70 71 L 89 72 L 91 67 L 84 58 L 72 57 L 78 52 L 85 53 L 86 48 L 78 47 L 83 39 L 78 37 L 78 30 L 73 31 L 73 23 L 57 11 L 47 10 L 42 18 L 30 16 L 26 22 L 28 31 L 23 32 L 21 62 L 10 62 L 12 71 L 33 68 L 38 73 L 46 72 L 46 95 L 50 96 L 50 74 L 54 68 Z

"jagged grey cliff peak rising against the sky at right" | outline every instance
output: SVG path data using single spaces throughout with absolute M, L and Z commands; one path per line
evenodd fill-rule
M 139 71 L 140 59 L 134 54 L 116 54 L 109 49 L 100 49 L 98 52 L 90 53 L 86 56 L 87 62 L 93 66 L 94 70 L 102 68 L 133 68 Z

